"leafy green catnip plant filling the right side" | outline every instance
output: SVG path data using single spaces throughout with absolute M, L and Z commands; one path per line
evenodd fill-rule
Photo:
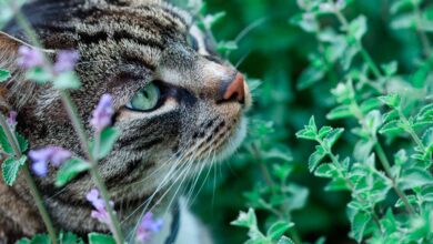
M 323 80 L 335 82 L 331 93 L 336 105 L 326 119 L 354 120 L 358 125 L 319 128 L 313 116 L 296 136 L 316 143 L 309 169 L 331 179 L 325 190 L 351 192 L 352 238 L 359 243 L 431 243 L 433 104 L 422 1 L 396 1 L 391 8 L 393 13 L 403 7 L 413 10 L 404 20 L 397 17 L 400 24 L 392 23 L 393 28 L 413 28 L 420 35 L 423 52 L 412 74 L 400 73 L 396 61 L 377 64 L 371 58 L 362 43 L 367 19 L 348 20 L 343 11 L 349 4 L 301 0 L 304 12 L 292 22 L 314 34 L 320 47 L 300 78 L 300 88 Z M 338 29 L 321 22 L 329 17 L 338 20 Z M 352 154 L 335 153 L 335 143 L 348 131 L 358 138 Z

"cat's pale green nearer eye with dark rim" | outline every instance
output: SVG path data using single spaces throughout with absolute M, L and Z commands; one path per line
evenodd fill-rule
M 157 108 L 160 98 L 160 89 L 155 84 L 150 83 L 131 99 L 127 108 L 140 112 L 151 111 Z

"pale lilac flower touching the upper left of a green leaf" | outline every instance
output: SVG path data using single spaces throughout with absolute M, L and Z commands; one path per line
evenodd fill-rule
M 60 146 L 48 146 L 40 150 L 31 150 L 29 157 L 33 161 L 33 172 L 44 177 L 48 173 L 48 163 L 51 162 L 53 166 L 60 166 L 64 161 L 70 159 L 72 153 Z

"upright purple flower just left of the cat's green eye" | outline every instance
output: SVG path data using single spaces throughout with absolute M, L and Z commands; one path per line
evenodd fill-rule
M 97 131 L 101 131 L 111 124 L 111 118 L 114 114 L 113 102 L 110 94 L 103 94 L 98 103 L 97 109 L 93 111 L 90 124 Z

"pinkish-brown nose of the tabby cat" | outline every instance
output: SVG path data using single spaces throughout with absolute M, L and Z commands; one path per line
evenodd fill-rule
M 245 80 L 242 73 L 238 72 L 234 80 L 229 83 L 222 83 L 221 90 L 222 96 L 219 102 L 238 101 L 239 103 L 245 102 Z

